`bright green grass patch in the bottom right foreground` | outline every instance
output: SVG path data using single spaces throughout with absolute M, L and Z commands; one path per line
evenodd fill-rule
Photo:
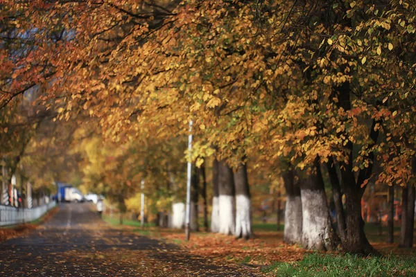
M 368 257 L 311 253 L 299 262 L 275 262 L 263 268 L 275 276 L 416 276 L 416 257 Z

